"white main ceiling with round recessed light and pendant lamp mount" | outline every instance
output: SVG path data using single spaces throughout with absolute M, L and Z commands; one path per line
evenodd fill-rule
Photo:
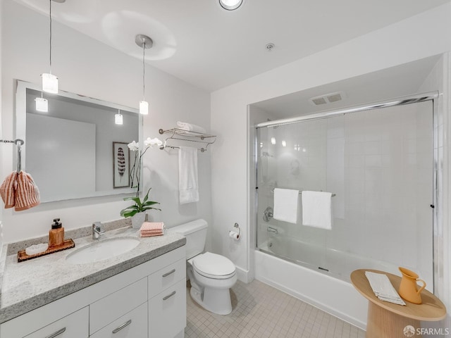
M 49 1 L 16 1 L 48 15 Z M 149 65 L 212 92 L 447 2 L 244 0 L 225 11 L 218 0 L 67 0 L 52 16 L 137 58 L 135 35 L 148 35 Z

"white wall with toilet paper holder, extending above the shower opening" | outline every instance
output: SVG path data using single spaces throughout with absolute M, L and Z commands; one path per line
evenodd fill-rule
M 254 243 L 248 240 L 230 246 L 226 236 L 234 222 L 243 225 L 243 238 L 249 239 L 249 231 L 253 231 L 249 222 L 249 196 L 254 192 L 249 191 L 248 182 L 247 105 L 449 51 L 450 15 L 451 4 L 445 4 L 211 94 L 211 129 L 221 140 L 211 161 L 216 252 L 231 258 L 243 271 L 252 269 L 246 252 Z M 445 259 L 450 265 L 450 257 Z M 449 307 L 450 299 L 444 301 Z

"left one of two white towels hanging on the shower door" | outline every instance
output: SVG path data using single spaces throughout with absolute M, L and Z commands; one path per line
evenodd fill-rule
M 296 224 L 298 196 L 299 190 L 274 189 L 274 219 Z

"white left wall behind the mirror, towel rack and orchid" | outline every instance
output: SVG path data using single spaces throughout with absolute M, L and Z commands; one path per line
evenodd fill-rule
M 14 80 L 39 83 L 49 70 L 49 19 L 13 0 L 2 0 L 1 132 L 14 137 Z M 52 73 L 58 75 L 62 90 L 137 108 L 142 96 L 142 63 L 57 22 L 53 25 Z M 146 99 L 149 115 L 144 117 L 144 138 L 159 137 L 159 128 L 169 129 L 177 120 L 209 127 L 210 96 L 156 68 L 146 68 Z M 13 148 L 2 146 L 1 177 L 14 168 Z M 177 195 L 178 157 L 176 151 L 149 149 L 144 156 L 144 189 L 153 187 L 151 199 L 161 202 L 163 211 L 152 212 L 155 220 L 169 227 L 195 218 L 211 220 L 209 152 L 199 153 L 200 201 L 179 206 Z M 64 170 L 64 163 L 61 163 Z M 53 218 L 75 228 L 95 220 L 116 220 L 130 202 L 120 196 L 41 204 L 18 213 L 3 213 L 4 240 L 15 242 L 46 234 Z

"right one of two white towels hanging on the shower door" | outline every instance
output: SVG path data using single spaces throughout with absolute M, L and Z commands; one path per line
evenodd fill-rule
M 302 192 L 302 225 L 332 229 L 330 192 Z

